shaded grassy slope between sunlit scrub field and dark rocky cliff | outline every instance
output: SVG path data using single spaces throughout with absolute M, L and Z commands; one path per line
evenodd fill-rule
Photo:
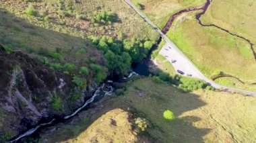
M 32 23 L 28 23 L 26 19 L 17 17 L 5 9 L 0 9 L 0 17 L 0 43 L 12 50 L 38 54 L 42 48 L 44 50 L 61 49 L 64 55 L 69 55 L 70 52 L 78 48 L 92 45 L 90 40 L 71 36 L 69 31 L 64 29 L 64 31 L 62 30 L 63 33 L 60 33 L 34 26 Z M 42 24 L 42 26 L 44 25 Z M 60 27 L 61 25 L 59 25 Z M 88 52 L 90 52 L 90 49 Z M 90 52 L 90 54 L 93 54 L 93 52 Z

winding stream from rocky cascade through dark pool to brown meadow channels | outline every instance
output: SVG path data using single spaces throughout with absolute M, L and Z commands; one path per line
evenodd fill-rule
M 191 12 L 191 11 L 202 10 L 201 13 L 198 13 L 195 16 L 197 21 L 199 21 L 199 24 L 201 26 L 204 26 L 204 27 L 213 26 L 213 27 L 216 27 L 220 30 L 223 30 L 224 32 L 228 32 L 228 34 L 231 34 L 232 36 L 236 36 L 238 38 L 242 38 L 243 40 L 247 41 L 251 45 L 251 50 L 252 50 L 253 56 L 256 60 L 256 52 L 253 49 L 254 44 L 250 40 L 248 40 L 247 38 L 244 38 L 243 36 L 239 36 L 237 34 L 232 34 L 228 30 L 225 30 L 224 28 L 220 28 L 219 26 L 216 26 L 214 24 L 204 24 L 204 23 L 201 22 L 200 17 L 203 14 L 205 14 L 205 11 L 207 11 L 207 8 L 209 7 L 210 3 L 211 3 L 211 0 L 206 0 L 205 5 L 203 5 L 202 7 L 191 7 L 191 8 L 183 9 L 183 10 L 179 11 L 178 13 L 175 13 L 174 15 L 172 15 L 170 17 L 170 19 L 166 23 L 166 26 L 164 26 L 164 28 L 162 30 L 162 33 L 166 34 L 168 32 L 168 30 L 170 30 L 170 27 L 172 26 L 173 21 L 177 17 L 179 17 L 179 15 L 182 15 L 183 13 L 187 13 L 187 12 Z M 137 73 L 139 73 L 139 75 L 144 75 L 144 76 L 150 75 L 150 70 L 149 70 L 149 67 L 148 67 L 149 62 L 150 62 L 150 55 L 152 54 L 152 51 L 154 51 L 158 47 L 158 44 L 160 44 L 161 40 L 162 40 L 162 38 L 160 37 L 158 39 L 158 41 L 156 42 L 156 44 L 150 50 L 150 53 L 148 54 L 147 58 L 145 60 L 143 60 L 143 62 L 133 63 L 133 72 L 130 73 L 130 75 L 128 77 L 124 77 L 123 79 L 129 79 L 133 75 L 138 75 Z M 69 120 L 69 118 L 74 117 L 75 115 L 77 115 L 77 113 L 79 113 L 79 111 L 83 111 L 83 109 L 85 109 L 90 103 L 94 102 L 94 100 L 97 97 L 104 97 L 104 96 L 112 95 L 113 91 L 115 91 L 114 87 L 111 85 L 112 82 L 113 81 L 106 81 L 105 83 L 100 85 L 100 87 L 98 87 L 98 89 L 96 89 L 96 91 L 94 92 L 94 95 L 90 99 L 88 99 L 86 101 L 86 103 L 84 103 L 84 105 L 82 105 L 82 107 L 79 107 L 78 109 L 76 109 L 71 115 L 67 115 L 67 116 L 63 117 L 62 119 L 53 119 L 53 120 L 51 120 L 51 122 L 47 122 L 47 123 L 44 123 L 44 124 L 39 124 L 38 126 L 35 126 L 34 128 L 24 132 L 23 134 L 20 134 L 19 136 L 11 139 L 8 143 L 18 142 L 20 139 L 22 139 L 24 137 L 32 136 L 32 134 L 34 134 L 35 132 L 38 132 L 38 130 L 40 130 L 42 128 L 49 127 L 49 126 L 54 126 L 58 122 L 63 122 L 65 120 Z

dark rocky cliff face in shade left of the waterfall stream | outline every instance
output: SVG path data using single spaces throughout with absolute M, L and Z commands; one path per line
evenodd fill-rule
M 0 142 L 42 120 L 71 113 L 95 87 L 88 86 L 82 93 L 71 83 L 71 77 L 22 52 L 7 52 L 0 45 Z

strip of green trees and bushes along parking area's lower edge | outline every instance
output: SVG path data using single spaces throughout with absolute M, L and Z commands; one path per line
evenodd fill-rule
M 152 77 L 152 81 L 154 81 L 154 83 L 162 83 L 165 81 L 172 85 L 176 85 L 185 93 L 196 89 L 215 90 L 214 87 L 210 86 L 205 81 L 181 75 L 170 76 L 168 73 L 163 72 L 158 73 L 158 76 Z

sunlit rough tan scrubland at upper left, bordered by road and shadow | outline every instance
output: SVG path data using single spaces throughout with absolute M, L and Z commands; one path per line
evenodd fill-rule
M 128 36 L 132 38 L 157 38 L 156 32 L 143 22 L 129 5 L 121 0 L 73 0 L 40 2 L 1 1 L 0 8 L 26 19 L 35 26 L 86 38 L 88 36 Z M 34 7 L 35 14 L 26 14 L 28 7 Z M 101 11 L 115 15 L 115 20 L 96 22 L 94 17 Z

